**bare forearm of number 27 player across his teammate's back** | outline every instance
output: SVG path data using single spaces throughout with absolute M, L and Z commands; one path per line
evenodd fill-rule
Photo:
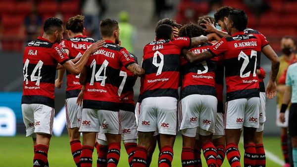
M 210 59 L 211 57 L 213 57 L 213 54 L 210 53 L 210 51 L 204 51 L 198 55 L 194 54 L 193 52 L 187 50 L 187 49 L 183 49 L 182 53 L 184 55 L 184 57 L 190 62 L 190 63 L 194 63 L 194 64 L 198 64 L 201 63 L 204 60 Z

